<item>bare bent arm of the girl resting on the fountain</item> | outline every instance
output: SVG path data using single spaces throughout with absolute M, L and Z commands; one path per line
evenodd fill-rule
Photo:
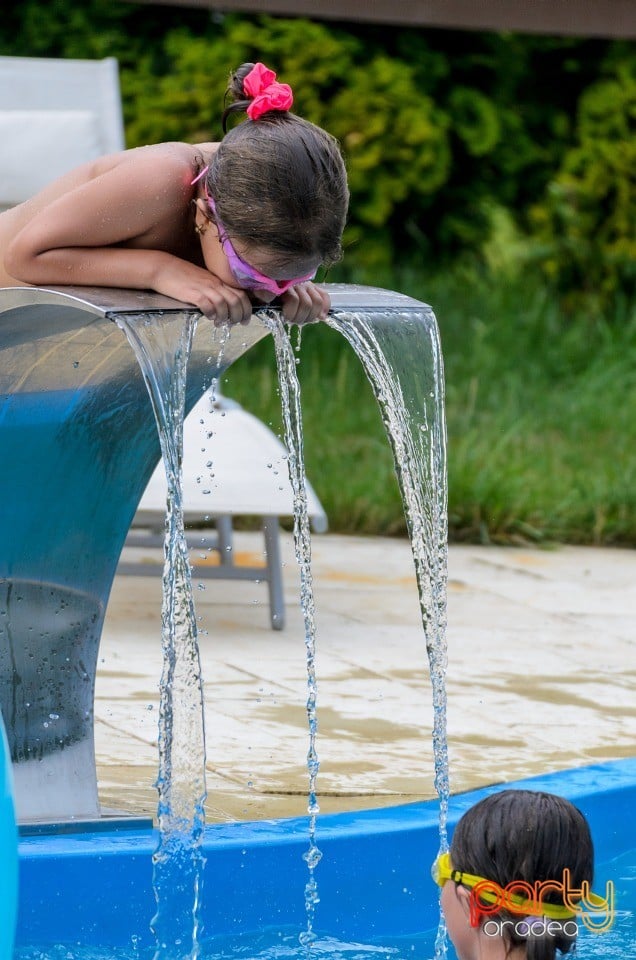
M 5 253 L 23 283 L 151 289 L 192 303 L 218 323 L 247 323 L 248 297 L 203 267 L 165 250 L 152 237 L 174 222 L 183 230 L 189 165 L 133 153 L 116 166 L 32 212 Z M 37 204 L 37 198 L 30 201 Z M 177 238 L 175 238 L 177 239 Z M 123 246 L 135 242 L 136 246 Z M 146 246 L 148 244 L 148 246 Z

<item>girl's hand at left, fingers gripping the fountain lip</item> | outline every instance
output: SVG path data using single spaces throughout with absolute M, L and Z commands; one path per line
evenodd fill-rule
M 153 287 L 167 297 L 192 303 L 217 327 L 247 324 L 252 317 L 252 304 L 244 290 L 228 286 L 209 270 L 185 260 L 176 260 L 162 270 Z

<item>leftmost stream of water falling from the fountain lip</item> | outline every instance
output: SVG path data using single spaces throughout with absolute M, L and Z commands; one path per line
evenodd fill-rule
M 152 402 L 168 484 L 159 718 L 159 845 L 153 856 L 155 960 L 199 954 L 205 825 L 203 685 L 183 520 L 181 467 L 186 370 L 198 313 L 178 323 L 122 318 Z

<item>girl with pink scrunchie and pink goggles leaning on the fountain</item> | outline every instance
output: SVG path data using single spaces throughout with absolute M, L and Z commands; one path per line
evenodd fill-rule
M 0 287 L 151 289 L 217 324 L 281 297 L 288 322 L 324 319 L 311 280 L 342 254 L 349 197 L 337 143 L 289 112 L 291 89 L 261 63 L 239 67 L 226 98 L 220 143 L 101 157 L 0 214 Z

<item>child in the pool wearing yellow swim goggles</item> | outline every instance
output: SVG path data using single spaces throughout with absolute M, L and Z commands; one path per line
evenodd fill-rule
M 576 945 L 572 906 L 581 891 L 588 909 L 605 912 L 610 906 L 589 892 L 593 864 L 587 821 L 568 800 L 531 790 L 504 790 L 481 800 L 459 820 L 450 854 L 433 865 L 459 960 L 554 960 L 567 954 Z M 537 889 L 546 881 L 552 881 L 549 887 Z

